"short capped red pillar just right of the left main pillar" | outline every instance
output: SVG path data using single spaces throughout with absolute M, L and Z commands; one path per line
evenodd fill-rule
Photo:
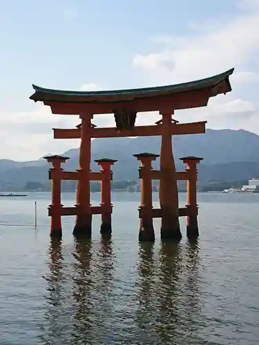
M 113 213 L 113 205 L 111 204 L 111 166 L 115 164 L 114 159 L 96 159 L 96 163 L 101 166 L 101 206 L 102 206 L 102 224 L 101 234 L 111 235 L 111 215 Z

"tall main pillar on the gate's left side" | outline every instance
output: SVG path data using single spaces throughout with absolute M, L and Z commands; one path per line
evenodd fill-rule
M 90 208 L 90 156 L 91 156 L 91 118 L 81 114 L 81 143 L 79 149 L 79 178 L 76 190 L 77 217 L 73 235 L 90 238 L 92 235 L 92 213 Z

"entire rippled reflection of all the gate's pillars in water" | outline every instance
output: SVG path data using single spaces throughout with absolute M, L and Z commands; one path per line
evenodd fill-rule
M 71 254 L 68 261 L 61 241 L 51 240 L 41 344 L 195 344 L 198 243 L 141 243 L 127 277 L 135 288 L 122 295 L 111 239 L 75 239 Z M 134 259 L 122 264 L 132 268 Z

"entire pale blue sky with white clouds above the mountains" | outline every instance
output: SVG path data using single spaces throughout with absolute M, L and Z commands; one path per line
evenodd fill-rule
M 259 135 L 259 0 L 0 0 L 0 158 L 60 154 L 78 139 L 53 139 L 75 115 L 30 101 L 32 83 L 61 90 L 162 86 L 235 68 L 232 92 L 180 122 Z M 137 125 L 159 115 L 140 113 Z M 113 115 L 93 124 L 114 126 Z

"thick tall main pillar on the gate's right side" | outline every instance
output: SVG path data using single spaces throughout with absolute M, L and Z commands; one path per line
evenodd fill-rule
M 170 113 L 162 113 L 162 122 L 158 125 L 162 128 L 160 154 L 160 207 L 162 209 L 161 239 L 180 240 L 182 234 L 178 217 L 178 184 L 175 172 L 175 161 L 173 159 L 171 124 L 172 115 Z M 175 124 L 175 126 L 178 125 Z

